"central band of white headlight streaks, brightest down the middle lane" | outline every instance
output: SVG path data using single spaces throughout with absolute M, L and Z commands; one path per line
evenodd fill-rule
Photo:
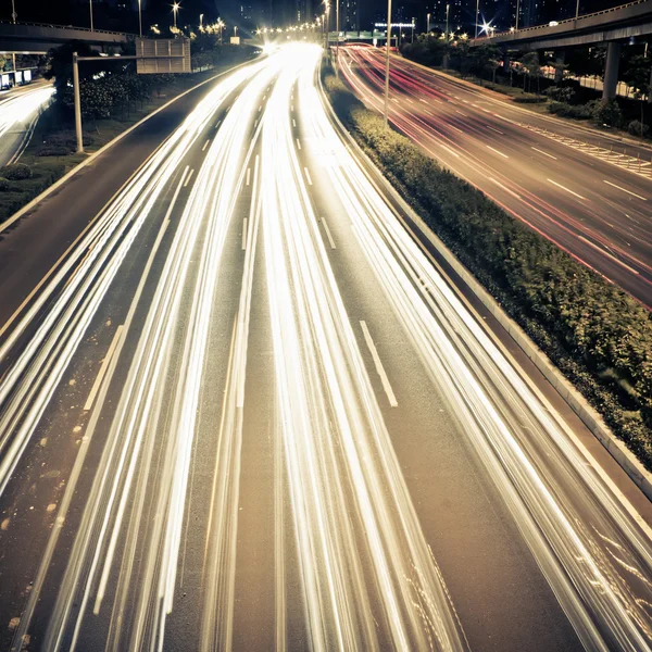
M 461 650 L 297 159 L 290 91 L 300 74 L 312 83 L 319 49 L 287 54 L 263 131 L 263 235 L 277 436 L 310 640 L 315 650 Z M 302 115 L 323 112 L 302 96 L 300 104 Z

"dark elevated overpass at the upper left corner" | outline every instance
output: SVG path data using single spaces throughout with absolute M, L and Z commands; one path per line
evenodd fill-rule
M 70 40 L 87 42 L 92 48 L 104 50 L 118 47 L 136 37 L 134 34 L 87 29 L 72 25 L 48 25 L 41 23 L 10 23 L 0 21 L 0 52 L 45 54 Z

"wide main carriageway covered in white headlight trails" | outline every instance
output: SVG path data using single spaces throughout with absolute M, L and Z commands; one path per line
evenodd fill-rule
M 651 649 L 650 513 L 404 229 L 319 60 L 213 83 L 3 327 L 0 648 Z

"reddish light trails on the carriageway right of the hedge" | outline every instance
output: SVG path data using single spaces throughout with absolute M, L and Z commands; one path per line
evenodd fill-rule
M 340 48 L 340 59 L 344 78 L 356 95 L 371 109 L 381 112 L 384 62 L 378 52 L 374 48 Z M 650 304 L 652 253 L 647 243 L 651 241 L 652 233 L 644 215 L 641 213 L 644 222 L 640 227 L 615 222 L 614 210 L 618 211 L 622 206 L 615 199 L 602 197 L 604 193 L 600 191 L 593 198 L 595 203 L 590 208 L 565 210 L 560 205 L 557 198 L 551 198 L 550 192 L 546 191 L 544 175 L 542 177 L 538 170 L 530 170 L 527 150 L 535 149 L 555 161 L 559 160 L 559 165 L 569 166 L 563 172 L 566 178 L 577 177 L 578 183 L 586 187 L 587 183 L 591 185 L 590 180 L 586 181 L 581 175 L 586 174 L 591 179 L 593 172 L 590 167 L 585 170 L 582 154 L 574 152 L 573 156 L 568 156 L 564 152 L 564 155 L 560 154 L 561 159 L 557 159 L 536 147 L 532 148 L 532 145 L 539 145 L 540 140 L 536 134 L 496 114 L 494 117 L 510 123 L 513 128 L 507 135 L 493 135 L 488 127 L 491 127 L 491 130 L 503 131 L 504 126 L 493 129 L 491 125 L 487 125 L 486 116 L 460 117 L 459 111 L 450 109 L 450 100 L 442 90 L 446 86 L 447 83 L 434 74 L 408 61 L 396 59 L 391 74 L 393 95 L 399 98 L 425 98 L 427 103 L 437 103 L 438 111 L 435 114 L 419 109 L 418 105 L 413 108 L 394 103 L 390 108 L 390 121 L 429 155 L 480 189 L 511 215 L 526 223 L 589 268 L 622 284 L 625 279 L 625 289 Z M 479 91 L 474 92 L 477 95 Z M 463 134 L 459 135 L 460 131 Z M 503 149 L 505 145 L 512 148 L 511 152 Z M 500 154 L 505 161 L 497 164 L 490 158 L 482 156 L 480 148 Z M 454 160 L 451 160 L 449 154 L 453 155 Z M 492 188 L 487 183 L 489 176 L 500 181 L 500 187 L 504 188 L 503 192 L 509 197 L 497 192 L 496 187 Z M 637 240 L 640 237 L 638 241 L 645 244 L 631 247 L 632 236 L 637 236 Z M 587 247 L 588 242 L 592 246 Z M 612 254 L 607 255 L 606 251 L 611 251 Z M 623 275 L 624 271 L 631 269 L 637 271 L 634 275 L 636 278 Z

